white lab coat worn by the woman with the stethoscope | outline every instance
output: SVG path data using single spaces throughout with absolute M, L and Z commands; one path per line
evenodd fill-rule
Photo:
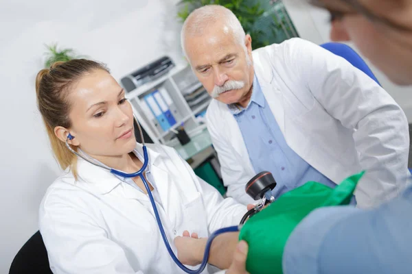
M 170 147 L 147 145 L 163 227 L 173 240 L 184 230 L 207 237 L 237 225 L 246 207 L 223 199 Z M 137 151 L 142 155 L 141 145 Z M 65 173 L 47 190 L 40 231 L 54 273 L 183 273 L 170 258 L 150 201 L 101 167 L 78 160 L 78 181 Z M 207 273 L 205 270 L 203 273 Z

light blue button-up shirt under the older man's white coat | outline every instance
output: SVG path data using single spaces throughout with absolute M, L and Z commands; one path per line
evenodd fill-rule
M 255 173 L 270 171 L 275 177 L 275 198 L 309 181 L 336 186 L 286 144 L 256 76 L 247 108 L 229 105 L 229 110 L 238 122 Z

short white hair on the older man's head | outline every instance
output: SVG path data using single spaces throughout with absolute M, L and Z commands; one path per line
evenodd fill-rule
M 187 16 L 185 23 L 183 23 L 181 30 L 181 47 L 186 58 L 185 38 L 194 35 L 201 36 L 205 29 L 216 23 L 216 21 L 222 19 L 224 22 L 223 32 L 229 34 L 230 31 L 236 42 L 242 45 L 245 53 L 247 53 L 247 48 L 244 45 L 246 34 L 236 15 L 222 5 L 204 5 L 203 7 L 194 10 Z

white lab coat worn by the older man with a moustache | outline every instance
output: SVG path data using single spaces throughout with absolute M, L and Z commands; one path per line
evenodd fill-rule
M 376 82 L 300 38 L 253 51 L 253 67 L 293 151 L 336 184 L 367 171 L 355 192 L 358 207 L 376 206 L 404 189 L 409 175 L 407 118 Z M 206 117 L 227 195 L 252 203 L 244 186 L 257 172 L 238 123 L 217 100 Z

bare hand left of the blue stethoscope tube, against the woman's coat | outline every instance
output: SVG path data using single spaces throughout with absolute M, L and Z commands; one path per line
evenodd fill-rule
M 183 236 L 174 238 L 177 258 L 182 264 L 196 266 L 201 264 L 205 252 L 207 238 L 198 238 L 198 234 L 183 232 Z

